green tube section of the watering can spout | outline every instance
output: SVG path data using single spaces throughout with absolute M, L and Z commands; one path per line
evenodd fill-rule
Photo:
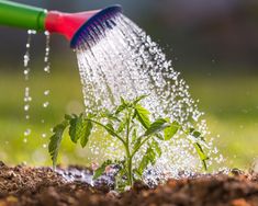
M 0 0 L 0 25 L 44 31 L 45 9 Z

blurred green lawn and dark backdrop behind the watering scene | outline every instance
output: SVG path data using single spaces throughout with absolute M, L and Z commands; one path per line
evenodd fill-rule
M 240 0 L 18 1 L 76 12 L 120 3 L 124 13 L 157 41 L 190 85 L 205 112 L 226 164 L 248 169 L 258 157 L 258 3 Z M 23 112 L 23 55 L 26 32 L 0 27 L 0 160 L 10 164 L 49 164 L 49 129 L 65 113 L 83 110 L 76 55 L 52 35 L 52 72 L 44 68 L 45 36 L 35 35 L 31 52 L 30 121 Z M 43 95 L 49 89 L 49 98 Z M 44 108 L 43 102 L 49 101 Z M 45 123 L 42 123 L 45 119 Z M 32 134 L 24 142 L 24 130 Z M 42 134 L 47 137 L 43 138 Z M 87 153 L 64 142 L 61 162 L 87 163 Z

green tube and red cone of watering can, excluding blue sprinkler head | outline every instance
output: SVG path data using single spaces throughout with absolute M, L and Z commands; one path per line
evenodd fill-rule
M 48 31 L 71 39 L 76 31 L 99 10 L 64 13 L 0 0 L 0 25 L 25 30 Z

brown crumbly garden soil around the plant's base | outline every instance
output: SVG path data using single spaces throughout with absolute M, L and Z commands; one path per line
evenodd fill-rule
M 71 170 L 81 171 L 83 175 L 71 175 Z M 90 175 L 89 169 L 70 167 L 63 173 L 70 175 L 70 181 L 51 168 L 10 168 L 0 162 L 0 206 L 258 206 L 258 175 L 238 170 L 229 175 L 203 174 L 169 180 L 155 188 L 137 182 L 122 194 L 112 191 L 113 185 L 104 181 L 94 186 L 81 181 L 86 174 Z

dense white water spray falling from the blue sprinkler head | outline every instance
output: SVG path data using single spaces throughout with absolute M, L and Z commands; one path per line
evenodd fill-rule
M 133 100 L 148 94 L 142 103 L 154 114 L 153 118 L 168 116 L 184 128 L 194 127 L 202 135 L 209 135 L 206 123 L 201 119 L 203 113 L 192 100 L 189 85 L 173 70 L 161 48 L 123 14 L 108 23 L 114 25 L 112 30 L 99 22 L 76 48 L 86 113 L 112 108 L 120 103 L 120 96 Z M 150 176 L 165 173 L 177 176 L 182 170 L 189 174 L 201 170 L 191 137 L 180 138 L 182 135 L 160 141 L 162 156 L 152 168 Z M 111 142 L 105 139 L 106 145 Z M 209 149 L 207 165 L 211 165 L 217 149 L 212 140 L 203 142 L 203 147 Z M 101 150 L 92 139 L 90 149 L 93 153 Z M 117 150 L 119 146 L 110 147 L 104 158 L 120 159 L 122 154 L 115 152 Z M 136 157 L 135 162 L 137 159 L 141 158 Z M 218 158 L 216 160 L 218 162 Z

